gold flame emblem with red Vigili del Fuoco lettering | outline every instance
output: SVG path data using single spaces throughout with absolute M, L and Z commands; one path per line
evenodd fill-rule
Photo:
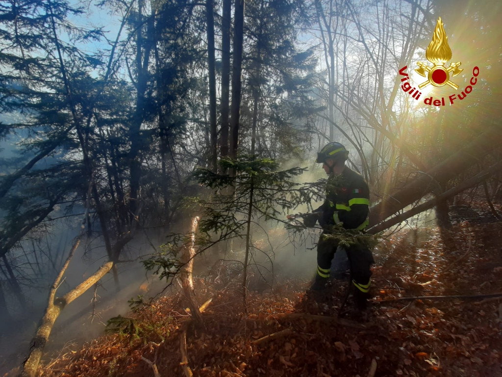
M 415 100 L 420 98 L 420 95 L 422 94 L 420 90 L 428 85 L 436 87 L 449 85 L 453 89 L 457 90 L 458 85 L 455 84 L 451 78 L 463 71 L 463 69 L 460 68 L 462 63 L 457 61 L 455 63 L 450 63 L 448 68 L 445 67 L 445 64 L 451 60 L 452 52 L 450 46 L 448 45 L 448 37 L 444 31 L 441 17 L 438 18 L 434 34 L 432 35 L 432 41 L 429 43 L 429 46 L 425 51 L 425 57 L 433 64 L 433 66 L 430 67 L 427 63 L 419 61 L 417 62 L 418 68 L 415 69 L 415 72 L 423 77 L 426 77 L 427 80 L 419 84 L 418 89 L 416 87 L 412 87 L 409 82 L 410 76 L 406 73 L 408 66 L 405 65 L 399 70 L 399 74 L 405 76 L 401 79 L 403 82 L 403 84 L 401 84 L 401 89 L 403 89 L 405 93 L 408 93 Z M 458 93 L 458 95 L 453 94 L 449 96 L 447 102 L 453 105 L 455 100 L 463 100 L 467 97 L 467 95 L 472 91 L 472 86 L 476 84 L 478 75 L 479 68 L 474 67 L 472 69 L 472 77 L 469 81 L 470 85 L 467 85 L 460 93 Z M 445 106 L 445 103 L 444 97 L 441 99 L 433 99 L 431 96 L 424 99 L 424 104 L 431 106 Z

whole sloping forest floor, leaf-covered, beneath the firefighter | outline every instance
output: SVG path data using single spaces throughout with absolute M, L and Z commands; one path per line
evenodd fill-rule
M 349 298 L 337 317 L 347 280 L 314 297 L 295 279 L 249 291 L 244 314 L 236 287 L 213 274 L 194 279 L 200 304 L 212 299 L 205 328 L 181 294 L 162 297 L 130 313 L 130 335 L 63 350 L 41 375 L 502 376 L 502 297 L 396 300 L 502 292 L 502 223 L 457 214 L 449 230 L 404 229 L 378 246 L 363 314 Z

